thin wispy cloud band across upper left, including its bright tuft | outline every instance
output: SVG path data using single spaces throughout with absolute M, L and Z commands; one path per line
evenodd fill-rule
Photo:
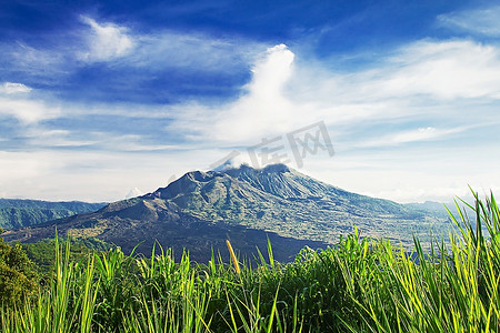
M 174 30 L 144 34 L 89 17 L 81 17 L 80 21 L 82 24 L 73 30 L 52 36 L 50 48 L 20 41 L 0 42 L 4 71 L 16 69 L 16 73 L 47 87 L 59 87 L 73 80 L 74 73 L 93 62 L 109 62 L 122 69 L 121 74 L 127 79 L 117 83 L 119 89 L 172 72 L 181 75 L 199 72 L 238 80 L 268 47 L 234 36 L 221 38 Z M 138 75 L 133 77 L 136 81 L 130 81 L 130 72 Z M 0 93 L 3 90 L 1 84 Z

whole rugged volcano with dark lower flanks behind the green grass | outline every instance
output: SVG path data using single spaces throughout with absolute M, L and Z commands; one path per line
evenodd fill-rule
M 224 240 L 243 254 L 271 240 L 277 259 L 289 260 L 304 245 L 326 246 L 351 233 L 410 244 L 412 234 L 448 228 L 431 213 L 344 191 L 283 164 L 226 171 L 189 172 L 143 196 L 111 203 L 94 213 L 78 214 L 43 225 L 9 231 L 7 241 L 36 242 L 58 233 L 93 236 L 126 252 L 150 253 L 154 241 L 194 260 L 208 260 L 210 249 L 224 251 Z

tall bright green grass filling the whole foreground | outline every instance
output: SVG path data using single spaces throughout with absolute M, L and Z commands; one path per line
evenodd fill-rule
M 499 332 L 500 212 L 476 198 L 450 243 L 408 253 L 356 232 L 338 246 L 224 264 L 153 249 L 70 259 L 56 242 L 52 276 L 37 296 L 3 305 L 4 332 Z M 453 218 L 454 219 L 454 218 Z M 484 232 L 487 230 L 487 232 Z M 158 253 L 159 252 L 159 253 Z

